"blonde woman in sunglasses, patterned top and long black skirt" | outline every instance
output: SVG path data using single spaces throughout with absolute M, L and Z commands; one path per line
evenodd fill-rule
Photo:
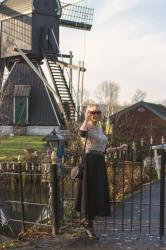
M 85 120 L 80 127 L 80 135 L 86 140 L 85 169 L 83 180 L 79 182 L 75 209 L 84 218 L 81 225 L 90 238 L 96 238 L 93 222 L 96 216 L 110 216 L 109 186 L 104 153 L 112 153 L 124 149 L 126 144 L 118 148 L 109 147 L 107 137 L 99 125 L 101 110 L 98 105 L 89 105 L 85 112 Z M 85 142 L 84 142 L 85 143 Z

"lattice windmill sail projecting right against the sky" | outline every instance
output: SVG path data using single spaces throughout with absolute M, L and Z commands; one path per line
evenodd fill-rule
M 60 26 L 89 31 L 92 27 L 94 9 L 61 2 Z

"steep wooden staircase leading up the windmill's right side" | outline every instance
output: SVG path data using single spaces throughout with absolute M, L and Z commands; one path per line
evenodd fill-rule
M 70 89 L 65 79 L 63 69 L 56 63 L 56 60 L 51 55 L 45 55 L 46 63 L 54 83 L 55 90 L 61 101 L 65 118 L 67 121 L 75 120 L 75 103 L 73 101 Z

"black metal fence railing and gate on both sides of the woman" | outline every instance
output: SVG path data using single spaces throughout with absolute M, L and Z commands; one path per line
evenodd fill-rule
M 151 149 L 148 159 L 135 161 L 135 152 L 130 150 L 106 159 L 112 214 L 97 218 L 96 230 L 164 236 L 165 149 L 158 150 L 160 164 L 154 156 Z M 55 162 L 0 164 L 0 208 L 15 233 L 35 227 L 57 234 L 79 227 L 80 214 L 74 211 L 78 183 L 71 180 L 70 170 L 69 159 L 63 166 Z

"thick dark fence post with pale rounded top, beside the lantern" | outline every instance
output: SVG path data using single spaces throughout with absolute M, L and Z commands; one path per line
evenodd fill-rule
M 55 151 L 51 154 L 51 204 L 52 204 L 52 234 L 59 233 L 59 189 Z

